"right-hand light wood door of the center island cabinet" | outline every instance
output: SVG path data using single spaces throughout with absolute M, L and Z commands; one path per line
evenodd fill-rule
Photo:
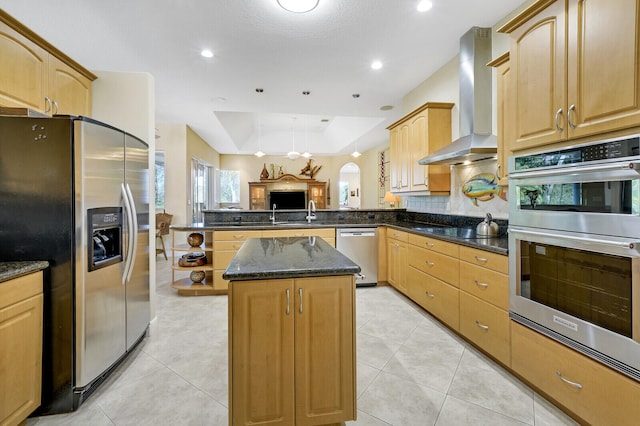
M 295 291 L 295 424 L 355 419 L 353 277 L 298 278 Z

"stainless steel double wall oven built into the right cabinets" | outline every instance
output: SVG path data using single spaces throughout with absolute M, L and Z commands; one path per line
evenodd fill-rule
M 510 315 L 640 380 L 640 136 L 509 159 Z

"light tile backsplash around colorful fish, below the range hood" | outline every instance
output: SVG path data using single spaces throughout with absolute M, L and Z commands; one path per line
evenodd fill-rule
M 462 187 L 469 179 L 483 173 L 495 175 L 496 170 L 496 160 L 483 160 L 466 166 L 453 166 L 451 168 L 451 195 L 403 196 L 401 205 L 407 210 L 424 213 L 472 217 L 484 217 L 487 213 L 491 213 L 495 218 L 508 219 L 509 203 L 497 194 L 488 201 L 478 200 L 478 205 L 475 206 L 471 198 L 462 193 Z M 504 189 L 506 191 L 507 188 Z

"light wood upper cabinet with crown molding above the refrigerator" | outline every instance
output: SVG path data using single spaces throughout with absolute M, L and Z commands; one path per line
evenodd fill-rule
M 0 106 L 91 115 L 96 76 L 0 10 Z

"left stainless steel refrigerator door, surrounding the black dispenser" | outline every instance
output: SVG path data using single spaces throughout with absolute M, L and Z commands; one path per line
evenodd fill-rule
M 123 262 L 89 272 L 87 210 L 121 205 L 124 133 L 74 121 L 76 185 L 76 378 L 83 388 L 126 352 Z M 127 237 L 123 235 L 123 240 Z

